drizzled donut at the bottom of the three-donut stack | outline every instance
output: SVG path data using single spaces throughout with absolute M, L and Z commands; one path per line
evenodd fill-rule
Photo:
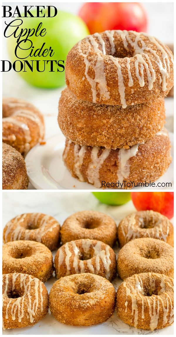
M 66 140 L 63 161 L 72 176 L 80 181 L 97 188 L 127 189 L 160 178 L 172 159 L 170 147 L 166 129 L 130 149 L 80 146 Z

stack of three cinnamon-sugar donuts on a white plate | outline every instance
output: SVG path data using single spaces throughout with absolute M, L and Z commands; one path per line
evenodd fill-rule
M 135 31 L 95 33 L 71 49 L 65 77 L 58 123 L 73 177 L 97 188 L 131 188 L 166 172 L 164 97 L 173 87 L 166 45 Z

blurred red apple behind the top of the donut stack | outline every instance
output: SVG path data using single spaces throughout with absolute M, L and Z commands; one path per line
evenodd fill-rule
M 108 29 L 147 31 L 147 14 L 140 2 L 86 2 L 78 14 L 91 34 Z

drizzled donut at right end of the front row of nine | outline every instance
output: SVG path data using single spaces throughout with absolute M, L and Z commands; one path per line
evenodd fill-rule
M 174 280 L 164 274 L 128 277 L 117 290 L 118 316 L 132 327 L 163 329 L 174 320 Z

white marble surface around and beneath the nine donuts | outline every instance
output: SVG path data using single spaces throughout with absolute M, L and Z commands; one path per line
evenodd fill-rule
M 127 214 L 135 211 L 132 202 L 128 202 L 123 206 L 107 206 L 97 201 L 90 192 L 43 192 L 43 191 L 20 191 L 20 192 L 3 192 L 3 227 L 8 220 L 22 213 L 43 212 L 55 217 L 62 225 L 63 221 L 72 213 L 83 210 L 97 210 L 112 216 L 116 223 Z M 118 247 L 115 251 L 118 254 Z M 55 252 L 53 252 L 53 256 Z M 56 278 L 53 276 L 46 283 L 48 292 Z M 118 277 L 112 282 L 117 289 L 122 280 Z M 105 323 L 93 327 L 71 327 L 63 325 L 56 321 L 49 312 L 45 318 L 31 328 L 12 329 L 3 331 L 4 335 L 172 335 L 173 325 L 162 330 L 145 331 L 135 329 L 123 323 L 114 313 Z

